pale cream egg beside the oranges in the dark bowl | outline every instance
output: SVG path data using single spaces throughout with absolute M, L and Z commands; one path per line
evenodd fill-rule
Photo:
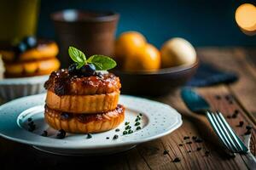
M 187 40 L 175 37 L 165 42 L 160 49 L 163 67 L 191 65 L 195 63 L 195 48 Z

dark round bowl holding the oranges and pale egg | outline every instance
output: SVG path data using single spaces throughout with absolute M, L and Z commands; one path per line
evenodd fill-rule
M 196 59 L 192 65 L 179 65 L 156 72 L 112 72 L 120 78 L 122 94 L 160 96 L 185 85 L 195 75 L 198 66 L 199 59 Z

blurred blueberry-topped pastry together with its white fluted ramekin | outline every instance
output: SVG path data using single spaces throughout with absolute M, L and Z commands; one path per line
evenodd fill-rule
M 55 42 L 36 37 L 25 37 L 14 46 L 0 48 L 0 99 L 6 102 L 44 93 L 44 82 L 60 67 L 58 52 Z

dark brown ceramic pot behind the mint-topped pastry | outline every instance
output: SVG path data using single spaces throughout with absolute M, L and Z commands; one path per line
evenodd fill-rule
M 113 55 L 119 14 L 66 9 L 51 14 L 59 38 L 61 66 L 71 63 L 67 49 L 79 48 L 85 55 Z

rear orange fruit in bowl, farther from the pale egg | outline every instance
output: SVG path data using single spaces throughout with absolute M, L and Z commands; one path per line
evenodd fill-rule
M 146 43 L 146 38 L 141 33 L 126 31 L 115 42 L 115 57 L 123 60 L 125 57 L 129 57 L 140 48 L 143 48 Z

